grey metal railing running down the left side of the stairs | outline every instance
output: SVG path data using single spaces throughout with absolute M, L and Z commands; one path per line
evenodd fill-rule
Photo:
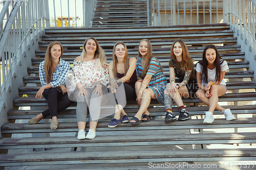
M 50 24 L 48 0 L 9 0 L 2 3 L 0 108 L 1 116 L 7 117 L 7 111 L 13 108 L 10 101 L 18 97 L 18 88 L 23 85 L 23 77 L 35 56 L 38 41 Z M 6 121 L 7 118 L 2 118 L 0 125 Z

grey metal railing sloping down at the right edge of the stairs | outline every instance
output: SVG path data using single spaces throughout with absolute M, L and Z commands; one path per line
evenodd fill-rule
M 246 44 L 245 53 L 252 53 L 253 58 L 256 59 L 256 1 L 225 0 L 223 5 L 224 21 L 230 23 L 231 29 L 238 36 L 241 44 Z

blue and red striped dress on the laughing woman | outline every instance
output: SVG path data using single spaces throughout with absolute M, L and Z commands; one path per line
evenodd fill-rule
M 136 63 L 136 72 L 137 76 L 142 75 L 143 68 L 141 66 L 141 58 L 137 59 Z M 148 83 L 147 87 L 151 88 L 154 91 L 154 94 L 161 105 L 164 105 L 164 89 L 166 88 L 167 81 L 162 72 L 160 63 L 155 59 L 155 57 L 151 58 L 150 66 L 148 67 L 146 75 L 152 75 L 150 83 Z M 142 76 L 141 76 L 142 77 Z

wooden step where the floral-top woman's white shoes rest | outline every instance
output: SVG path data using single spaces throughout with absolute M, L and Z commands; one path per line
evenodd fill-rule
M 215 133 L 211 134 L 173 134 L 165 135 L 122 135 L 96 136 L 93 140 L 78 140 L 70 137 L 37 138 L 2 138 L 0 149 L 35 149 L 35 148 L 71 148 L 71 147 L 122 147 L 140 145 L 178 145 L 178 144 L 232 144 L 256 143 L 255 133 Z

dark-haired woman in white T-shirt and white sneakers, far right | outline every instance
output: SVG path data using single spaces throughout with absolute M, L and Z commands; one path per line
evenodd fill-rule
M 207 45 L 204 48 L 203 59 L 197 63 L 197 90 L 198 98 L 209 110 L 205 112 L 204 123 L 214 122 L 214 110 L 220 110 L 227 120 L 236 119 L 230 109 L 224 109 L 218 104 L 219 96 L 226 93 L 227 87 L 223 80 L 227 62 L 223 60 L 214 45 Z

